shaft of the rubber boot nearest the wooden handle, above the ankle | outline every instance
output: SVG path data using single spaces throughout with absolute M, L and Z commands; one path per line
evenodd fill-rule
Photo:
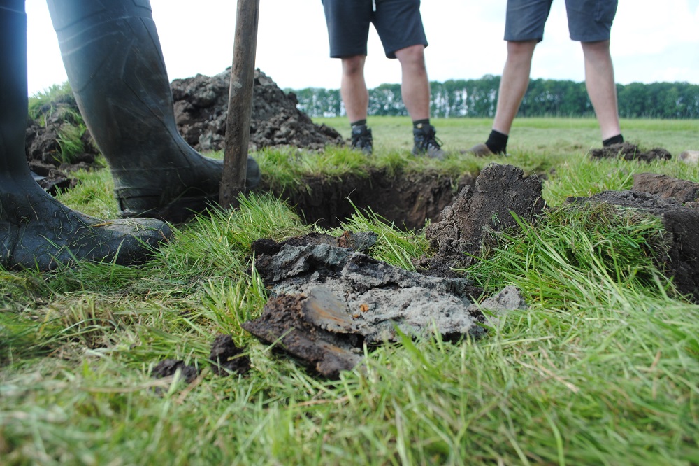
M 173 99 L 147 0 L 49 0 L 66 73 L 110 167 L 177 138 Z

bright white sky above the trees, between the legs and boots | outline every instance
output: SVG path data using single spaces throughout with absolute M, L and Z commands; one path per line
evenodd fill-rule
M 231 66 L 235 0 L 151 0 L 170 80 Z M 279 87 L 337 89 L 340 61 L 329 58 L 321 0 L 261 0 L 256 67 Z M 500 75 L 505 63 L 505 0 L 423 0 L 430 80 Z M 45 0 L 26 0 L 29 94 L 67 80 Z M 397 60 L 370 30 L 369 87 L 399 83 Z M 699 0 L 620 0 L 612 27 L 617 83 L 699 84 Z M 554 0 L 532 78 L 584 80 L 582 51 L 570 41 L 565 1 Z

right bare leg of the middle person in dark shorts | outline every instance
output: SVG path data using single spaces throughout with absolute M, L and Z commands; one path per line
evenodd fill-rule
M 396 50 L 396 58 L 401 62 L 401 96 L 413 121 L 430 118 L 430 83 L 424 50 L 424 45 Z

